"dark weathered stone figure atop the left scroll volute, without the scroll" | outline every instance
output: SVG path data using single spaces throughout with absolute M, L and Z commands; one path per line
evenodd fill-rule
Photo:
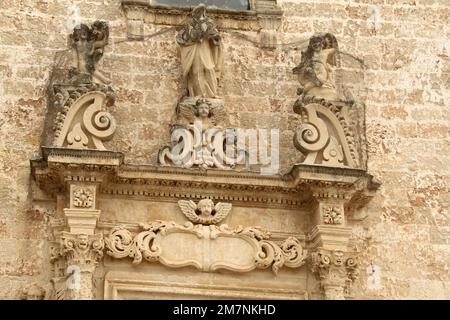
M 95 21 L 91 27 L 80 24 L 74 28 L 70 40 L 76 63 L 76 67 L 71 70 L 71 76 L 75 82 L 111 82 L 96 68 L 108 44 L 108 38 L 109 27 L 104 21 Z

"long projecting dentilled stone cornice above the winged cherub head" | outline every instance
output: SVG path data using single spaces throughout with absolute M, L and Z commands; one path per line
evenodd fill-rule
M 58 194 L 67 181 L 98 183 L 100 193 L 161 201 L 201 198 L 242 202 L 245 206 L 300 207 L 330 197 L 358 206 L 378 185 L 364 170 L 296 164 L 284 175 L 259 172 L 185 169 L 123 164 L 120 152 L 42 148 L 32 160 L 32 176 L 41 188 Z M 205 193 L 205 190 L 207 194 Z M 238 204 L 238 203 L 237 203 Z

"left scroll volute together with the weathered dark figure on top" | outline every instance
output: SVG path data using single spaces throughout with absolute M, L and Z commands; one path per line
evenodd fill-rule
M 115 93 L 96 65 L 108 37 L 103 21 L 74 28 L 70 36 L 73 54 L 65 59 L 64 54 L 60 56 L 72 66 L 59 62 L 52 74 L 46 127 L 53 129 L 54 136 L 46 139 L 47 146 L 106 150 L 103 141 L 111 139 L 116 130 L 115 119 L 106 110 L 114 104 Z

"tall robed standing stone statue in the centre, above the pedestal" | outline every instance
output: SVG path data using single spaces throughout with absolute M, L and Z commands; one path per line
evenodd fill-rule
M 206 6 L 195 7 L 179 31 L 181 68 L 190 97 L 217 97 L 217 85 L 223 64 L 223 46 L 214 22 L 206 17 Z

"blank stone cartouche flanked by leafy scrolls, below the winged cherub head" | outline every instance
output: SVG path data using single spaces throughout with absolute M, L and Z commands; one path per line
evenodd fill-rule
M 305 263 L 306 250 L 299 240 L 288 238 L 281 245 L 268 240 L 270 234 L 258 227 L 184 226 L 155 221 L 141 224 L 144 230 L 133 236 L 124 227 L 115 227 L 105 238 L 107 254 L 113 258 L 132 258 L 160 262 L 172 267 L 191 266 L 214 272 L 227 269 L 248 272 L 271 267 L 277 274 L 282 266 L 298 268 Z

